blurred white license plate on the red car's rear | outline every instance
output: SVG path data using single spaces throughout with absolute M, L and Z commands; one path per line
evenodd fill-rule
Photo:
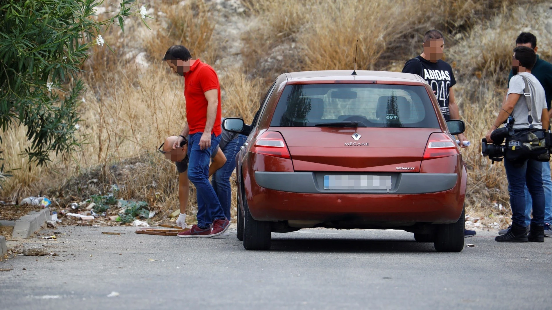
M 391 176 L 324 176 L 325 189 L 391 189 Z

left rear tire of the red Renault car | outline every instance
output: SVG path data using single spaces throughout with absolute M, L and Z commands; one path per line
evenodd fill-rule
M 249 212 L 247 200 L 243 199 L 243 247 L 246 250 L 267 250 L 270 248 L 270 222 L 256 221 Z

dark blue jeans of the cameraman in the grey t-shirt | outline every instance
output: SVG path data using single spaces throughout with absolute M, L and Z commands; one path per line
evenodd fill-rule
M 512 161 L 505 160 L 504 167 L 508 178 L 512 223 L 521 227 L 526 226 L 525 188 L 527 184 L 533 207 L 531 224 L 544 225 L 543 163 L 529 159 L 520 166 L 515 165 Z

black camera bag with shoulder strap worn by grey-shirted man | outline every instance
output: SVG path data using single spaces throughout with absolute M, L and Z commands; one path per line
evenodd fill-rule
M 546 129 L 533 128 L 531 107 L 533 105 L 529 83 L 526 77 L 521 75 L 525 83 L 525 96 L 527 109 L 529 110 L 529 128 L 514 129 L 514 134 L 506 138 L 506 154 L 508 160 L 533 159 L 537 161 L 550 161 L 550 133 Z

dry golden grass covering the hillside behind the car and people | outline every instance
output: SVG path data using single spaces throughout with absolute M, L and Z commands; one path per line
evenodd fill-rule
M 104 37 L 115 53 L 94 47 L 83 66 L 88 91 L 81 107 L 82 149 L 54 157 L 48 168 L 35 167 L 19 155 L 26 144 L 24 128 L 3 133 L 5 163 L 20 170 L 14 171 L 0 196 L 12 200 L 47 194 L 65 205 L 119 184 L 121 198 L 146 200 L 162 215 L 177 209 L 177 172 L 155 153 L 164 137 L 176 134 L 185 121 L 183 80 L 158 61 L 170 45 L 183 44 L 194 57 L 213 64 L 222 86 L 223 116 L 250 122 L 260 96 L 278 74 L 352 68 L 357 39 L 359 69 L 400 70 L 419 52 L 423 32 L 438 28 L 447 36 L 447 59 L 459 82 L 456 97 L 473 143 L 463 154 L 469 168 L 466 212 L 508 224 L 507 209 L 493 208 L 495 202 L 508 208 L 503 166 L 481 157 L 478 142 L 504 96 L 509 54 L 518 32 L 530 27 L 539 38 L 540 55 L 552 55 L 544 21 L 533 18 L 539 16 L 538 7 L 518 8 L 511 6 L 512 0 L 445 0 L 439 6 L 429 0 L 242 2 L 253 20 L 242 36 L 242 67 L 216 67 L 215 61 L 223 57 L 221 42 L 213 40 L 216 28 L 210 6 L 200 0 L 184 6 L 152 1 L 152 31 L 136 22 L 125 34 L 110 29 Z M 149 66 L 136 62 L 143 51 L 152 61 Z M 88 183 L 91 179 L 98 182 Z M 194 215 L 193 187 L 190 191 L 188 214 Z M 234 204 L 232 199 L 232 215 Z

